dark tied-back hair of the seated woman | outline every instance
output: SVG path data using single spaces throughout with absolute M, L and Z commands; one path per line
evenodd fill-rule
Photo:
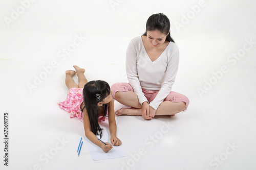
M 161 33 L 167 35 L 166 41 L 174 42 L 174 39 L 170 37 L 170 21 L 168 17 L 162 13 L 151 15 L 146 21 L 146 32 L 158 30 Z M 143 35 L 146 35 L 146 32 Z

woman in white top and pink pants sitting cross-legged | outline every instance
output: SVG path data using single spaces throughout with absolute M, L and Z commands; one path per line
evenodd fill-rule
M 116 115 L 170 115 L 185 111 L 188 98 L 172 91 L 178 71 L 179 48 L 170 37 L 169 19 L 153 14 L 146 22 L 146 32 L 131 40 L 126 51 L 126 73 L 129 83 L 111 86 L 113 98 L 131 106 Z

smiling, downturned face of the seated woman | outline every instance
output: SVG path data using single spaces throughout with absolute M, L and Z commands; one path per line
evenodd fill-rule
M 147 31 L 146 35 L 147 40 L 152 44 L 153 47 L 161 45 L 166 39 L 166 35 L 158 30 Z

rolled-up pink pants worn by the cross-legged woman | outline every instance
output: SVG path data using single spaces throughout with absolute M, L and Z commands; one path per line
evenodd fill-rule
M 113 98 L 116 100 L 115 93 L 117 91 L 133 91 L 133 87 L 129 83 L 115 83 L 111 86 L 111 91 L 113 92 Z M 142 88 L 142 92 L 144 93 L 144 96 L 146 97 L 148 103 L 151 103 L 155 99 L 158 91 L 159 90 L 145 90 Z M 163 101 L 185 102 L 186 109 L 183 111 L 187 110 L 189 104 L 189 100 L 185 95 L 177 93 L 175 91 L 171 91 Z

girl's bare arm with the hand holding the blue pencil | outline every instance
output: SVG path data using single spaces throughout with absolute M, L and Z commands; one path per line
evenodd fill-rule
M 92 132 L 90 120 L 86 109 L 83 111 L 83 128 L 86 133 L 86 137 L 91 140 L 94 144 L 97 144 L 104 152 L 109 152 L 113 147 L 110 143 L 105 142 L 107 145 L 98 140 L 98 137 Z

